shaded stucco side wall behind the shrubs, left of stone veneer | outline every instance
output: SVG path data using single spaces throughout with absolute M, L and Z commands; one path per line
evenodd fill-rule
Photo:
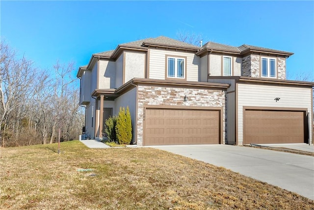
M 124 93 L 115 99 L 115 109 L 113 109 L 113 115 L 118 115 L 120 107 L 127 108 L 129 106 L 131 120 L 132 120 L 132 141 L 135 139 L 135 115 L 136 115 L 136 88 Z

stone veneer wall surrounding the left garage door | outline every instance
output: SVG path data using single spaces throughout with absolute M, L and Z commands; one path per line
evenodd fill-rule
M 226 97 L 223 90 L 207 89 L 186 89 L 174 87 L 151 87 L 138 86 L 137 102 L 137 145 L 143 145 L 143 113 L 147 105 L 171 105 L 176 106 L 208 106 L 223 107 L 223 136 L 222 143 L 225 144 L 226 136 Z M 188 101 L 184 102 L 184 96 L 188 96 Z

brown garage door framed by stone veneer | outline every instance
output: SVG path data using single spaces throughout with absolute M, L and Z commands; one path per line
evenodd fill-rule
M 144 144 L 219 144 L 219 113 L 219 110 L 146 109 Z

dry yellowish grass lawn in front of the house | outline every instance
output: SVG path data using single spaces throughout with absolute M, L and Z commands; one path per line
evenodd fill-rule
M 56 150 L 0 149 L 0 209 L 314 209 L 298 194 L 166 151 L 79 141 Z

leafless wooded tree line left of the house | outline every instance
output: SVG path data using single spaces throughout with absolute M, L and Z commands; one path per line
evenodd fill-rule
M 36 68 L 0 42 L 0 146 L 78 139 L 84 124 L 73 63 Z

